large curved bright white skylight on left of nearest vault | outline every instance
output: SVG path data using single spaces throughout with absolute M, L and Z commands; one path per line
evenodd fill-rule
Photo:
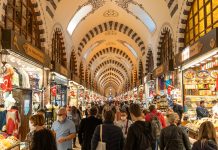
M 75 30 L 76 26 L 80 23 L 80 21 L 87 16 L 92 11 L 93 7 L 91 4 L 83 6 L 79 11 L 76 12 L 76 14 L 73 16 L 73 18 L 70 20 L 70 23 L 67 26 L 67 31 L 70 35 L 73 34 L 73 31 Z

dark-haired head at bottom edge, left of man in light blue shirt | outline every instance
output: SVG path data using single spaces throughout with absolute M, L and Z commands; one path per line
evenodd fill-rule
M 48 129 L 36 131 L 30 150 L 57 150 L 53 133 Z

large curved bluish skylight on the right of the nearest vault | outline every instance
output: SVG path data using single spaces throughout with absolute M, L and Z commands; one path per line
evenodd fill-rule
M 148 27 L 148 30 L 150 32 L 155 31 L 156 25 L 155 25 L 154 21 L 149 16 L 149 14 L 147 12 L 145 12 L 140 6 L 133 4 L 133 3 L 130 3 L 128 6 L 128 10 L 130 12 L 132 12 L 133 15 L 135 15 L 137 18 L 139 18 L 140 21 L 143 22 L 143 24 Z

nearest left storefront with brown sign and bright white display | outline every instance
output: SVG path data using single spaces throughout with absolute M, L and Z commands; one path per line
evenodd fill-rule
M 6 133 L 24 140 L 29 132 L 30 115 L 45 105 L 44 95 L 50 59 L 22 36 L 14 34 L 11 30 L 7 30 L 7 33 L 11 34 L 13 41 L 10 50 L 7 49 L 9 53 L 7 61 L 2 62 L 0 101 L 2 109 L 7 110 L 4 117 L 14 118 L 12 122 L 6 124 L 6 128 L 16 124 Z M 3 119 L 0 118 L 1 121 Z M 0 127 L 0 130 L 2 129 Z

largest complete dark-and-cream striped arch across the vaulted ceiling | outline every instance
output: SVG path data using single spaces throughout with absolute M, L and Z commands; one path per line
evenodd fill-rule
M 102 24 L 97 25 L 85 35 L 85 37 L 81 40 L 78 46 L 78 55 L 79 56 L 81 55 L 85 45 L 92 38 L 99 35 L 100 33 L 103 33 L 105 31 L 110 31 L 110 30 L 121 32 L 127 35 L 128 37 L 130 37 L 138 45 L 139 49 L 142 52 L 142 55 L 145 54 L 145 44 L 142 38 L 133 29 L 119 22 L 108 21 L 108 22 L 104 22 Z

